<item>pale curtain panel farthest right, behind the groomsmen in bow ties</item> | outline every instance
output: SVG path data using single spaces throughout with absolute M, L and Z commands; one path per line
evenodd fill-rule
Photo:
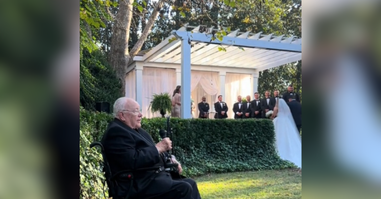
M 233 105 L 237 102 L 238 95 L 242 98 L 249 95 L 252 90 L 251 79 L 249 74 L 227 73 L 225 79 L 226 95 L 224 101 L 229 107 L 228 116 L 234 118 Z M 253 96 L 251 96 L 251 100 Z

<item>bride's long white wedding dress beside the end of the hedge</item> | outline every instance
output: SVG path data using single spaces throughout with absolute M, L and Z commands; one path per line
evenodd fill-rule
M 275 127 L 275 145 L 280 158 L 293 162 L 302 168 L 302 139 L 295 125 L 290 108 L 283 99 L 279 99 L 278 113 L 273 120 Z

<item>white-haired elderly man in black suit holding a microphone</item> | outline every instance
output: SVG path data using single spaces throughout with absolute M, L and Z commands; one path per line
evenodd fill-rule
M 112 121 L 102 139 L 113 174 L 123 170 L 164 167 L 172 149 L 169 138 L 155 144 L 147 131 L 141 128 L 142 113 L 139 104 L 131 98 L 121 97 L 114 104 Z M 173 162 L 178 163 L 174 157 Z M 181 164 L 178 167 L 181 174 Z M 130 191 L 132 198 L 201 199 L 197 184 L 189 178 L 172 179 L 165 171 L 137 172 Z M 124 198 L 129 191 L 128 181 L 117 180 L 117 195 Z

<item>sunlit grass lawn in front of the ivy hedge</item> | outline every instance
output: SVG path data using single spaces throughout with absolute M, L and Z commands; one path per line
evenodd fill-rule
M 196 181 L 203 199 L 302 198 L 302 174 L 294 170 L 212 174 Z

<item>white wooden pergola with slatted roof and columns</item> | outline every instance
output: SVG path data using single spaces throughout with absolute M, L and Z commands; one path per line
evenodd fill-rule
M 187 31 L 187 28 L 193 30 Z M 226 72 L 252 74 L 253 92 L 258 91 L 259 72 L 302 59 L 302 40 L 295 37 L 252 34 L 250 31 L 228 32 L 222 41 L 199 31 L 200 26 L 173 30 L 172 35 L 143 56 L 136 56 L 127 73 L 136 70 L 136 100 L 142 105 L 142 70 L 144 67 L 176 69 L 177 85 L 181 85 L 181 117 L 191 118 L 190 81 L 194 70 L 219 72 L 221 94 L 225 95 Z M 213 28 L 208 28 L 212 32 Z M 173 40 L 176 38 L 176 40 Z M 172 41 L 171 41 L 172 40 Z M 192 45 L 192 47 L 191 47 Z M 226 51 L 221 51 L 223 46 Z

